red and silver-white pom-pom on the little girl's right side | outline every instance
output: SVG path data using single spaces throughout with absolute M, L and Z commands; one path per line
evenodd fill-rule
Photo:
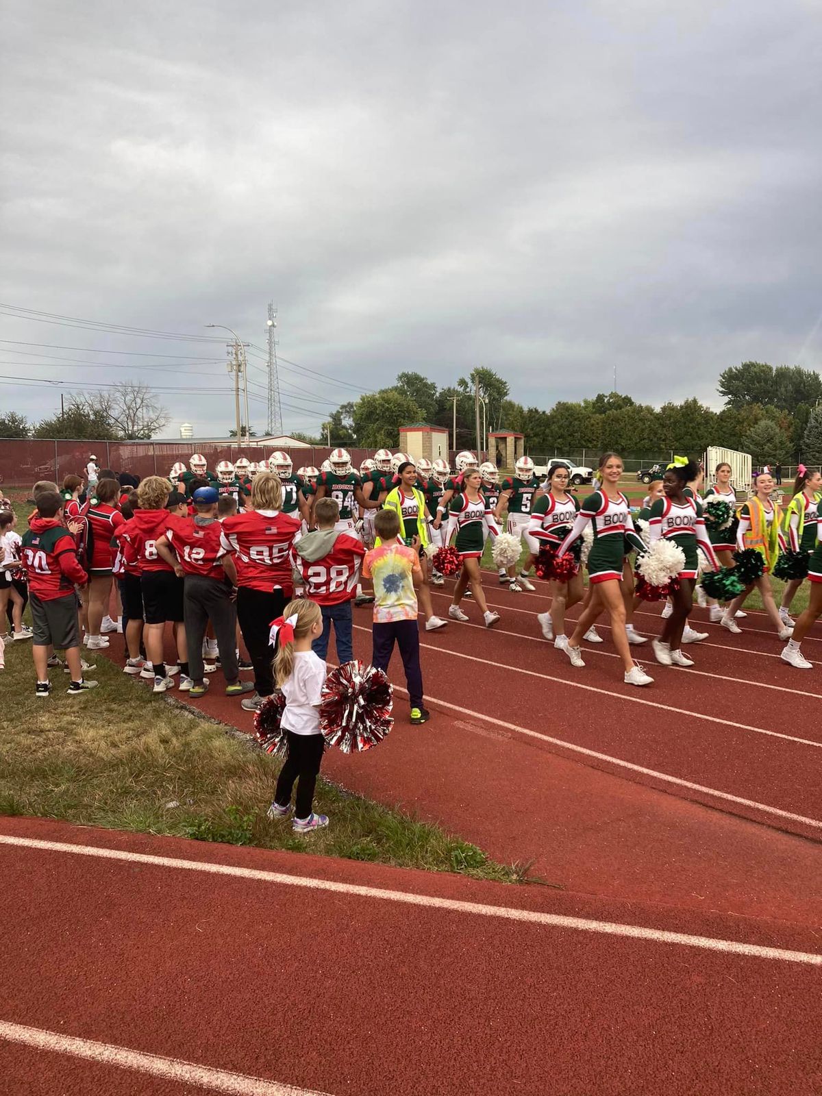
M 377 745 L 393 724 L 393 697 L 383 670 L 354 659 L 332 670 L 320 701 L 320 730 L 327 745 L 362 753 Z

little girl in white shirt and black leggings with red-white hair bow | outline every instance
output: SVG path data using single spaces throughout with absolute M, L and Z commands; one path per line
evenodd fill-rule
M 322 763 L 324 739 L 320 732 L 320 698 L 326 683 L 326 663 L 311 650 L 322 635 L 322 614 L 316 602 L 304 598 L 289 602 L 283 616 L 274 621 L 277 652 L 274 655 L 274 684 L 285 696 L 282 727 L 288 753 L 279 773 L 270 819 L 285 818 L 292 809 L 292 791 L 297 784 L 294 804 L 295 833 L 311 833 L 328 825 L 327 814 L 315 814 L 313 789 Z

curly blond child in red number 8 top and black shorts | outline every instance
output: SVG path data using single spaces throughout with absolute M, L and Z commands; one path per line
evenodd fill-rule
M 157 550 L 157 541 L 164 536 L 169 526 L 169 511 L 165 510 L 169 494 L 167 479 L 161 476 L 146 477 L 137 488 L 140 509 L 135 511 L 134 517 L 119 530 L 121 538 L 125 538 L 134 547 L 135 558 L 140 568 L 140 592 L 146 618 L 146 653 L 151 663 L 148 673 L 144 670 L 140 676 L 153 677 L 155 693 L 164 693 L 173 688 L 174 682 L 171 675 L 178 672 L 183 678 L 187 678 L 186 684 L 191 682 L 183 628 L 183 581 L 174 574 L 173 567 L 167 563 Z M 167 666 L 163 661 L 167 621 L 173 624 L 179 665 Z

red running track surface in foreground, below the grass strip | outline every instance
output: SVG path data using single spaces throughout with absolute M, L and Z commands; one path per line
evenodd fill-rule
M 784 921 L 25 819 L 0 825 L 0 863 L 2 1093 L 271 1096 L 279 1083 L 334 1096 L 810 1096 L 822 1085 L 822 948 Z M 21 1028 L 53 1032 L 53 1049 L 14 1041 Z M 109 1061 L 72 1057 L 67 1037 L 103 1044 Z M 128 1071 L 112 1048 L 158 1055 L 167 1071 L 176 1060 L 222 1071 L 224 1087 Z

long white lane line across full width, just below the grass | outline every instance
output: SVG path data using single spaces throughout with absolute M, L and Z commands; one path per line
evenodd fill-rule
M 439 898 L 433 894 L 415 894 L 409 891 L 387 890 L 383 887 L 362 887 L 357 883 L 341 883 L 330 879 L 310 876 L 292 876 L 282 871 L 263 871 L 259 868 L 240 868 L 232 864 L 208 864 L 201 860 L 184 860 L 171 856 L 152 856 L 147 853 L 128 853 L 119 848 L 101 848 L 94 845 L 71 845 L 61 841 L 41 841 L 36 837 L 12 837 L 0 834 L 0 844 L 21 848 L 43 849 L 52 853 L 69 853 L 76 856 L 92 856 L 107 860 L 152 864 L 157 867 L 203 871 L 216 876 L 233 876 L 254 879 L 259 882 L 279 883 L 286 887 L 302 887 L 310 890 L 332 891 L 358 898 L 377 899 L 383 902 L 399 902 L 404 905 L 421 905 L 432 910 L 449 910 L 454 913 L 469 913 L 481 917 L 499 917 L 503 921 L 518 921 L 551 928 L 572 928 L 585 933 L 603 933 L 608 936 L 627 936 L 632 939 L 652 940 L 659 944 L 680 944 L 686 947 L 704 948 L 708 951 L 727 951 L 733 955 L 751 956 L 760 959 L 779 959 L 785 962 L 803 962 L 822 966 L 822 955 L 807 951 L 790 951 L 760 944 L 744 944 L 740 940 L 716 939 L 710 936 L 693 936 L 689 933 L 672 933 L 667 929 L 647 928 L 643 925 L 623 925 L 613 921 L 593 921 L 589 917 L 569 917 L 558 913 L 543 913 L 537 910 L 521 910 L 515 906 L 488 905 L 481 902 L 465 902 L 460 899 Z M 287 1089 L 286 1089 L 287 1091 Z

